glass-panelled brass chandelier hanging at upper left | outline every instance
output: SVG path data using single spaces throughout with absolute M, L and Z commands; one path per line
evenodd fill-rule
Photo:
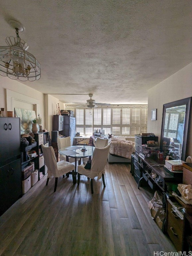
M 0 75 L 20 81 L 35 81 L 41 77 L 41 64 L 27 49 L 29 46 L 19 37 L 24 27 L 18 21 L 10 20 L 17 37 L 7 37 L 8 46 L 0 46 Z

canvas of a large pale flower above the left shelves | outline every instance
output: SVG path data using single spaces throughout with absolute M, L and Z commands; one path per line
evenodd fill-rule
M 32 120 L 36 119 L 34 110 L 27 110 L 23 108 L 15 108 L 15 116 L 20 117 L 21 134 L 31 133 Z

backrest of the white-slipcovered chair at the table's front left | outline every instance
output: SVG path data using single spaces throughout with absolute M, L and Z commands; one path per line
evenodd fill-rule
M 57 172 L 58 172 L 57 161 L 56 161 L 53 147 L 46 147 L 44 146 L 44 144 L 41 144 L 41 148 L 43 151 L 45 164 L 48 168 L 48 177 L 51 177 L 51 176 L 57 177 Z

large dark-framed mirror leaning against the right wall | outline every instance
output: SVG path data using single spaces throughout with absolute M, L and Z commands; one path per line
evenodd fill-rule
M 163 105 L 160 149 L 170 159 L 186 160 L 192 97 Z

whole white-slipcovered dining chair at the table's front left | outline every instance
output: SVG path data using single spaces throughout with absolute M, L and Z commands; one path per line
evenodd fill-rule
M 73 177 L 73 184 L 76 183 L 76 174 L 75 174 L 75 166 L 74 164 L 71 164 L 66 161 L 56 161 L 55 153 L 52 147 L 46 147 L 44 144 L 41 144 L 41 148 L 43 151 L 43 156 L 45 160 L 45 164 L 48 168 L 48 177 L 46 186 L 48 185 L 49 178 L 55 177 L 55 186 L 54 186 L 54 192 L 57 188 L 57 181 L 58 177 L 63 176 L 65 174 L 72 174 Z

